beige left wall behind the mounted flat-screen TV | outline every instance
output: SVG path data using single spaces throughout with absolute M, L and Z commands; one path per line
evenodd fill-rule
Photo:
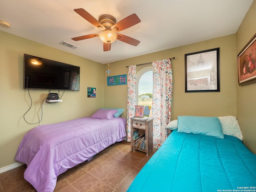
M 30 106 L 28 90 L 23 89 L 24 53 L 80 66 L 80 91 L 66 91 L 63 102 L 45 104 L 41 124 L 90 116 L 103 106 L 103 65 L 18 36 L 0 31 L 0 168 L 16 163 L 18 145 L 24 134 L 36 125 L 23 115 Z M 96 98 L 87 98 L 87 87 L 96 87 Z M 52 91 L 56 92 L 56 91 Z M 38 122 L 40 106 L 48 90 L 30 90 L 32 108 L 28 122 Z

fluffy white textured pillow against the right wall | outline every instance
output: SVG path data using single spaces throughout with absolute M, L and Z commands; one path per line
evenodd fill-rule
M 218 117 L 222 126 L 222 132 L 224 135 L 234 136 L 241 141 L 243 140 L 243 135 L 235 116 L 223 116 Z

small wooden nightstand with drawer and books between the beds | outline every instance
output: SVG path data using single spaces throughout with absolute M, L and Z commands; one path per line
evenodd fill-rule
M 153 119 L 131 119 L 131 150 L 149 152 L 153 149 Z

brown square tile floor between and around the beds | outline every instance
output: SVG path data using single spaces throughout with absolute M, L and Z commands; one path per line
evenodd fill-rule
M 54 192 L 126 192 L 147 157 L 131 151 L 130 142 L 113 144 L 92 160 L 81 163 L 58 176 Z M 23 176 L 26 165 L 0 174 L 0 192 L 36 192 Z

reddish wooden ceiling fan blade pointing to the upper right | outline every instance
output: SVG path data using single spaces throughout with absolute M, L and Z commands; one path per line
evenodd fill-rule
M 131 26 L 134 26 L 139 22 L 140 22 L 140 18 L 138 18 L 138 16 L 134 13 L 134 14 L 131 14 L 130 16 L 120 20 L 116 24 L 114 24 L 111 27 L 111 29 L 112 29 L 112 31 L 118 32 L 118 31 L 127 29 Z

